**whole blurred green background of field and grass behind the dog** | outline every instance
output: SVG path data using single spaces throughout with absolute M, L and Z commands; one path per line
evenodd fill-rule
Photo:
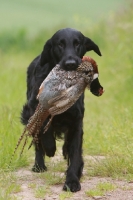
M 103 55 L 87 53 L 98 63 L 105 93 L 97 98 L 86 91 L 84 153 L 113 154 L 111 169 L 119 158 L 120 173 L 126 168 L 133 174 L 132 7 L 128 0 L 0 0 L 0 168 L 8 166 L 23 130 L 20 112 L 29 63 L 55 31 L 72 27 L 97 43 Z M 29 154 L 33 151 L 12 165 L 29 164 Z

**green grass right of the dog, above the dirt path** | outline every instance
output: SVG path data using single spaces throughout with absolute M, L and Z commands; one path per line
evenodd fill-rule
M 132 23 L 129 9 L 128 14 L 116 15 L 115 21 L 104 27 L 106 51 L 97 61 L 105 93 L 96 98 L 86 92 L 85 153 L 109 156 L 94 165 L 95 175 L 128 177 L 130 174 L 132 178 Z

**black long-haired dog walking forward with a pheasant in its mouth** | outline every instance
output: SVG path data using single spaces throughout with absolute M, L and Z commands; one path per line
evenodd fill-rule
M 70 28 L 57 31 L 46 42 L 41 55 L 36 57 L 28 67 L 27 103 L 21 114 L 21 121 L 24 125 L 28 123 L 36 109 L 38 89 L 52 68 L 59 63 L 65 70 L 74 70 L 81 63 L 84 54 L 91 50 L 101 56 L 98 46 L 92 40 Z M 91 91 L 93 92 L 92 89 Z M 42 172 L 47 169 L 44 156 L 54 156 L 56 137 L 61 137 L 64 133 L 63 156 L 68 160 L 68 169 L 63 189 L 69 188 L 72 192 L 81 189 L 79 179 L 84 165 L 82 158 L 83 117 L 84 95 L 66 112 L 55 116 L 51 127 L 45 134 L 43 134 L 42 127 L 39 135 L 39 149 L 35 146 L 35 164 L 32 170 Z

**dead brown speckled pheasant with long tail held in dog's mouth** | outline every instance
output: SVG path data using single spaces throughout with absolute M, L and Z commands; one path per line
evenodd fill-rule
M 30 146 L 33 143 L 36 143 L 38 146 L 39 132 L 44 121 L 51 116 L 44 128 L 45 133 L 48 130 L 53 117 L 69 109 L 78 100 L 86 88 L 90 89 L 93 82 L 97 96 L 101 96 L 103 87 L 98 81 L 98 74 L 96 62 L 89 56 L 83 57 L 82 63 L 78 66 L 77 70 L 65 71 L 60 65 L 56 65 L 39 88 L 39 93 L 37 95 L 39 101 L 38 106 L 33 116 L 29 119 L 28 124 L 16 145 L 14 154 L 24 136 L 26 136 L 26 138 L 21 154 L 24 150 L 28 136 L 33 137 Z

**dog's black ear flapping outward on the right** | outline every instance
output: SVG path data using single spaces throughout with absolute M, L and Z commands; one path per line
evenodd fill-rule
M 85 39 L 84 39 L 84 47 L 85 47 L 86 52 L 87 52 L 87 51 L 93 50 L 93 51 L 95 51 L 99 56 L 102 55 L 101 52 L 100 52 L 99 47 L 98 47 L 90 38 L 85 37 Z M 85 53 L 86 53 L 86 52 L 85 52 Z

